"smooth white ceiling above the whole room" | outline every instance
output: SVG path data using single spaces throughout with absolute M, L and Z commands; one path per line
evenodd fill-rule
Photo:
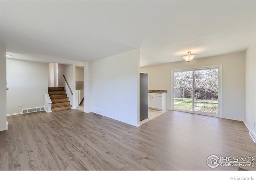
M 12 58 L 72 63 L 140 48 L 140 66 L 245 50 L 255 1 L 0 1 Z M 76 62 L 76 64 L 82 64 Z

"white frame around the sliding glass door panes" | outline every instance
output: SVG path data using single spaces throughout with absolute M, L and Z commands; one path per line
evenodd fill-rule
M 198 112 L 198 111 L 195 112 L 194 111 L 194 93 L 193 93 L 193 97 L 192 97 L 192 104 L 193 104 L 192 111 L 174 109 L 174 72 L 192 71 L 192 73 L 193 73 L 192 74 L 192 77 L 193 77 L 192 86 L 193 86 L 193 92 L 194 92 L 195 70 L 207 70 L 207 69 L 218 69 L 218 114 L 211 114 L 211 113 Z M 171 100 L 171 110 L 222 118 L 222 64 L 213 65 L 213 66 L 201 66 L 201 67 L 196 67 L 196 68 L 183 68 L 183 69 L 171 70 L 171 99 L 170 100 Z

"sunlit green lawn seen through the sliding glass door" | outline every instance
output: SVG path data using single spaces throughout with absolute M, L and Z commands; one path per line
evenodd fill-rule
M 181 102 L 179 104 L 174 104 L 175 109 L 192 111 L 192 98 L 174 98 L 174 101 Z M 218 114 L 218 100 L 195 100 L 195 106 L 198 103 L 205 104 L 199 110 L 200 112 Z

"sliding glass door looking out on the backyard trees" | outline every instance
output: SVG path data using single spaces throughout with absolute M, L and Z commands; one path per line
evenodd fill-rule
M 221 114 L 221 66 L 172 70 L 172 109 L 196 114 Z

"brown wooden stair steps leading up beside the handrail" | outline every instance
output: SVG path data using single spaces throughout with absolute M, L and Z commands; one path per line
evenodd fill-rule
M 70 101 L 64 88 L 48 88 L 48 94 L 52 100 L 52 112 L 71 109 Z

